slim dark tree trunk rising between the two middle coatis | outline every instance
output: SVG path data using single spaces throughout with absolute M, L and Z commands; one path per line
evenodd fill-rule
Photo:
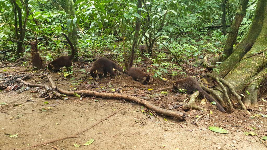
M 137 8 L 142 8 L 142 1 L 138 0 L 137 1 Z M 137 13 L 141 16 L 141 10 L 137 9 Z M 133 45 L 132 45 L 132 49 L 131 49 L 131 53 L 129 55 L 128 58 L 128 65 L 127 65 L 127 69 L 131 68 L 133 65 L 133 59 L 137 50 L 137 44 L 138 44 L 138 37 L 139 37 L 139 31 L 140 31 L 140 26 L 141 26 L 141 19 L 136 17 L 136 21 L 135 21 L 135 33 L 134 33 L 134 37 L 133 37 Z

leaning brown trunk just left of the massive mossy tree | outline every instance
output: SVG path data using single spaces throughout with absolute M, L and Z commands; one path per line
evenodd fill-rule
M 239 1 L 239 4 L 237 6 L 237 10 L 235 12 L 234 21 L 231 24 L 230 31 L 229 31 L 229 34 L 227 36 L 226 42 L 225 42 L 225 46 L 224 46 L 224 50 L 223 50 L 223 54 L 225 54 L 224 58 L 227 58 L 233 52 L 233 45 L 235 44 L 235 40 L 236 40 L 236 37 L 238 34 L 238 29 L 241 25 L 241 22 L 246 15 L 246 9 L 248 6 L 248 2 L 249 2 L 249 0 L 240 0 Z

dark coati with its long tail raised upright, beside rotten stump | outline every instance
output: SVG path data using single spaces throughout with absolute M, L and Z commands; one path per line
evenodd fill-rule
M 70 56 L 61 56 L 59 58 L 56 58 L 52 62 L 50 62 L 48 64 L 49 70 L 58 71 L 61 67 L 64 67 L 64 66 L 70 67 L 72 65 L 72 59 L 74 58 L 74 55 L 75 55 L 75 48 L 72 45 L 72 43 L 70 42 L 68 36 L 64 33 L 61 33 L 61 34 L 64 35 L 64 37 L 67 39 L 67 41 L 70 45 L 71 55 Z

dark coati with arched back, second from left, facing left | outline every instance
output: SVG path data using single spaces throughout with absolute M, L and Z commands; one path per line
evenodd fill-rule
M 123 68 L 115 64 L 113 61 L 109 60 L 108 58 L 101 57 L 93 62 L 93 65 L 90 69 L 90 74 L 93 78 L 97 78 L 98 75 L 99 79 L 101 79 L 103 74 L 105 77 L 107 76 L 107 73 L 109 73 L 112 78 L 114 78 L 115 73 L 113 72 L 113 68 L 119 71 L 123 71 Z

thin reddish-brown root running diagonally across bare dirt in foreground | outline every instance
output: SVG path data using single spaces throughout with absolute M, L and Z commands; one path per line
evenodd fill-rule
M 47 141 L 47 142 L 44 142 L 44 143 L 40 143 L 40 144 L 36 144 L 36 145 L 32 145 L 32 146 L 30 146 L 30 147 L 25 147 L 25 148 L 22 148 L 22 149 L 19 149 L 19 150 L 31 149 L 31 148 L 34 148 L 34 147 L 38 147 L 38 146 L 40 146 L 40 145 L 46 145 L 46 144 L 53 143 L 53 142 L 56 142 L 56 141 L 61 141 L 61 140 L 65 140 L 65 139 L 73 138 L 73 137 L 75 137 L 75 136 L 77 136 L 77 135 L 79 135 L 79 134 L 81 134 L 81 133 L 83 133 L 83 132 L 85 132 L 85 131 L 87 131 L 87 130 L 93 128 L 93 127 L 95 127 L 97 124 L 99 124 L 99 123 L 101 123 L 102 121 L 108 119 L 109 117 L 115 115 L 116 113 L 120 112 L 121 110 L 123 110 L 123 109 L 126 108 L 126 107 L 127 107 L 127 106 L 125 106 L 125 107 L 119 109 L 118 111 L 112 113 L 111 115 L 109 115 L 109 116 L 107 116 L 107 117 L 104 117 L 103 119 L 97 121 L 95 124 L 89 126 L 88 128 L 86 128 L 86 129 L 84 129 L 84 130 L 82 130 L 82 131 L 79 131 L 79 132 L 77 132 L 77 133 L 74 133 L 73 135 L 66 136 L 66 137 L 61 137 L 61 138 L 58 138 L 58 139 L 53 139 L 53 140 L 50 140 L 50 141 Z

